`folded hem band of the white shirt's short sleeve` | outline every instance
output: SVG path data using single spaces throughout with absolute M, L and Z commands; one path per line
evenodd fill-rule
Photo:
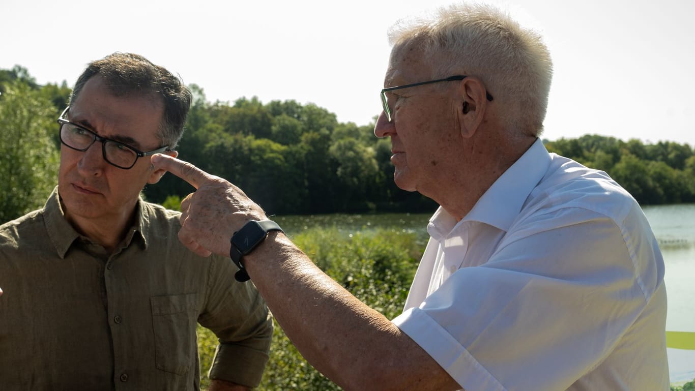
M 505 388 L 442 326 L 420 308 L 409 308 L 393 319 L 466 390 L 505 391 Z

